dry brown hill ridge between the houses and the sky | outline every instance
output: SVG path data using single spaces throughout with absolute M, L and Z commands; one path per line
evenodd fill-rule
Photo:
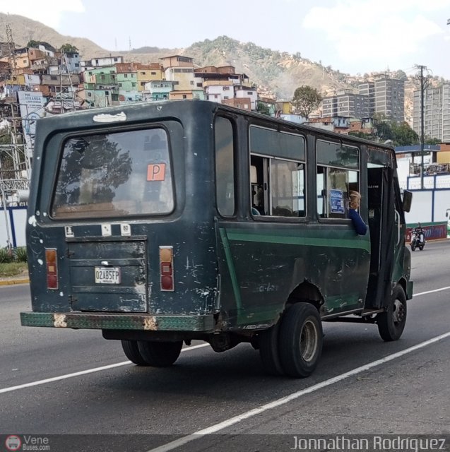
M 131 51 L 110 52 L 83 37 L 60 35 L 35 20 L 0 13 L 0 41 L 3 42 L 6 41 L 7 24 L 11 25 L 13 40 L 17 45 L 24 46 L 30 40 L 49 42 L 54 47 L 69 43 L 78 48 L 82 59 L 121 55 L 125 61 L 145 64 L 158 61 L 161 57 L 180 54 L 192 57 L 197 67 L 235 66 L 236 72 L 245 73 L 250 81 L 259 86 L 264 95 L 273 95 L 279 100 L 292 99 L 295 88 L 301 85 L 310 85 L 326 96 L 343 88 L 352 88 L 365 78 L 334 71 L 330 66 L 323 66 L 321 62 L 302 58 L 300 53 L 292 55 L 264 49 L 253 42 L 239 42 L 227 36 L 195 42 L 190 47 L 179 49 L 142 47 Z M 365 74 L 368 78 L 373 75 Z M 406 78 L 406 74 L 404 76 Z M 415 77 L 408 77 L 405 81 L 405 116 L 408 121 L 412 117 L 413 91 L 417 89 L 418 81 Z

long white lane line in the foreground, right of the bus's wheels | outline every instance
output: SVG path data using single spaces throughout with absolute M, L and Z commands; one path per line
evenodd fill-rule
M 321 381 L 321 383 L 316 383 L 313 386 L 309 386 L 309 388 L 305 388 L 305 389 L 302 389 L 301 391 L 292 393 L 292 394 L 290 394 L 290 396 L 279 398 L 278 400 L 273 400 L 273 402 L 266 403 L 266 405 L 261 405 L 259 408 L 254 408 L 253 410 L 244 412 L 244 413 L 242 413 L 242 415 L 237 415 L 235 417 L 231 417 L 228 420 L 219 422 L 218 424 L 212 425 L 211 427 L 207 427 L 206 429 L 199 430 L 195 433 L 189 434 L 187 436 L 183 436 L 182 438 L 177 439 L 175 441 L 171 441 L 170 443 L 163 444 L 162 446 L 158 446 L 156 448 L 150 449 L 148 452 L 172 451 L 174 448 L 184 446 L 184 444 L 194 441 L 195 439 L 200 439 L 202 436 L 217 433 L 220 430 L 223 430 L 223 429 L 226 429 L 227 427 L 232 426 L 233 424 L 237 424 L 238 422 L 241 422 L 242 420 L 249 419 L 249 417 L 259 415 L 261 412 L 265 412 L 267 410 L 277 408 L 280 405 L 284 405 L 285 403 L 288 403 L 291 400 L 300 398 L 300 397 L 304 396 L 305 394 L 309 394 L 314 391 L 318 391 L 321 388 L 325 388 L 326 386 L 330 386 L 331 384 L 338 383 L 338 381 L 348 379 L 349 376 L 360 374 L 363 371 L 372 369 L 372 367 L 376 367 L 376 366 L 379 366 L 380 364 L 384 364 L 385 362 L 392 361 L 393 359 L 406 355 L 407 353 L 413 352 L 415 350 L 419 350 L 422 347 L 426 347 L 427 345 L 430 345 L 439 340 L 449 338 L 449 337 L 450 337 L 450 331 L 448 333 L 444 333 L 442 335 L 436 336 L 435 338 L 425 340 L 425 342 L 422 342 L 420 344 L 413 345 L 413 347 L 409 347 L 409 348 L 406 348 L 405 350 L 401 350 L 400 352 L 396 352 L 396 353 L 393 353 L 392 355 L 388 355 L 384 358 L 377 359 L 377 361 L 369 362 L 369 364 L 365 364 L 364 366 L 356 367 L 355 369 L 345 372 L 344 374 L 334 376 L 333 378 L 325 380 L 325 381 Z

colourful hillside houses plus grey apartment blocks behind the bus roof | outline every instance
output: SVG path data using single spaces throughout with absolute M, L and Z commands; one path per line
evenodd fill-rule
M 0 102 L 17 102 L 17 91 L 42 93 L 41 116 L 134 102 L 198 99 L 305 121 L 292 112 L 289 101 L 278 102 L 230 65 L 198 68 L 194 59 L 182 55 L 149 64 L 111 55 L 81 61 L 77 52 L 59 52 L 42 45 L 16 49 L 13 55 L 1 43 L 0 49 Z M 372 127 L 361 123 L 367 124 L 375 112 L 401 120 L 403 109 L 398 105 L 403 99 L 400 81 L 379 76 L 373 83 L 362 83 L 357 93 L 345 91 L 324 98 L 309 124 L 338 133 L 372 132 Z

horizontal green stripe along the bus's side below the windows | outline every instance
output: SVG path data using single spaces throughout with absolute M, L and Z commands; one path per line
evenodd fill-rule
M 221 230 L 222 231 L 222 230 Z M 333 248 L 359 248 L 370 252 L 370 241 L 360 239 L 320 239 L 317 237 L 292 237 L 271 234 L 254 234 L 252 232 L 226 232 L 228 240 L 235 242 L 262 242 L 274 244 L 306 245 L 306 246 L 326 246 Z

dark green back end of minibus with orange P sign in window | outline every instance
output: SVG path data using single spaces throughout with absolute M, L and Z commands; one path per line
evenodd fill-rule
M 23 326 L 213 331 L 214 109 L 150 102 L 38 121 Z

